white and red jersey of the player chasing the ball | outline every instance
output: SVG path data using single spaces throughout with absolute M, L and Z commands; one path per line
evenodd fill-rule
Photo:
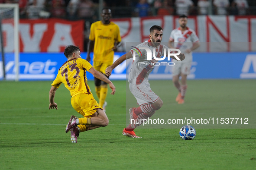
M 147 47 L 151 50 L 152 53 L 152 60 L 147 60 L 147 52 L 145 49 L 139 49 L 139 47 Z M 152 63 L 158 62 L 158 60 L 154 59 L 153 57 L 153 50 L 155 50 L 155 57 L 161 58 L 164 56 L 164 51 L 166 50 L 167 55 L 167 49 L 163 44 L 160 44 L 157 48 L 154 47 L 150 40 L 145 41 L 136 47 L 134 47 L 130 52 L 133 55 L 133 52 L 135 51 L 135 60 L 133 60 L 133 64 L 128 76 L 128 81 L 131 84 L 145 84 L 149 85 L 149 74 L 154 69 L 154 65 Z M 161 62 L 161 61 L 159 61 Z

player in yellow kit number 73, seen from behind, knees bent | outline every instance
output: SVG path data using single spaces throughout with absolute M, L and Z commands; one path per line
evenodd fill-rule
M 111 94 L 115 94 L 116 91 L 113 83 L 102 73 L 95 70 L 90 63 L 82 59 L 80 54 L 79 47 L 69 45 L 65 48 L 64 55 L 68 61 L 58 70 L 58 75 L 53 81 L 49 92 L 49 109 L 58 109 L 57 104 L 54 102 L 54 97 L 56 90 L 63 83 L 70 91 L 72 107 L 84 116 L 83 118 L 71 116 L 68 122 L 66 132 L 71 131 L 72 143 L 77 143 L 80 132 L 108 125 L 106 113 L 91 94 L 91 89 L 87 84 L 86 71 L 109 84 L 112 89 Z

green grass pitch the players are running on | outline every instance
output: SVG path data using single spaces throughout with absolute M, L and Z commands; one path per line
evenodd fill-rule
M 189 80 L 185 104 L 175 102 L 171 81 L 159 94 L 172 113 L 256 113 L 256 80 Z M 61 85 L 49 110 L 49 81 L 0 82 L 0 170 L 254 170 L 255 129 L 195 129 L 194 140 L 180 139 L 179 129 L 136 129 L 142 139 L 124 137 L 126 82 L 113 81 L 107 96 L 107 127 L 83 132 L 70 141 L 65 126 L 71 115 L 69 91 Z M 89 85 L 94 93 L 93 82 Z M 109 90 L 110 94 L 110 90 Z M 128 91 L 127 95 L 130 95 Z M 136 101 L 133 100 L 133 107 Z M 130 107 L 130 106 L 129 106 Z M 162 108 L 161 108 L 162 109 Z M 156 112 L 157 113 L 157 112 Z M 154 115 L 155 116 L 155 115 Z

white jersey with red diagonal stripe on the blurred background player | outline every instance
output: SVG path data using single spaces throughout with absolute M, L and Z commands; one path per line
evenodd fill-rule
M 193 43 L 199 42 L 198 36 L 194 30 L 187 27 L 185 31 L 181 31 L 180 28 L 172 30 L 170 41 L 174 42 L 174 47 L 181 50 L 181 53 L 185 54 L 186 58 L 184 61 L 192 60 L 192 52 L 186 53 L 186 49 L 193 46 Z

